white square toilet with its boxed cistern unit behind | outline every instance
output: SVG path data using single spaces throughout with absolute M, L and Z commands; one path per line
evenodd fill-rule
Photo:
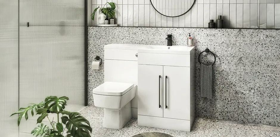
M 121 129 L 132 118 L 132 112 L 137 116 L 135 96 L 139 48 L 143 46 L 104 46 L 104 83 L 93 89 L 93 99 L 94 106 L 104 108 L 105 128 Z

